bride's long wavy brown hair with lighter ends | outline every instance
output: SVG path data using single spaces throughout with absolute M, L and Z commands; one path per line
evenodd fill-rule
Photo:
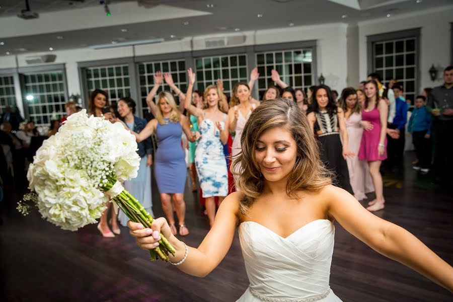
M 238 176 L 236 186 L 244 193 L 239 205 L 243 215 L 247 215 L 254 200 L 264 189 L 264 178 L 255 156 L 257 140 L 264 131 L 274 127 L 288 129 L 297 144 L 298 160 L 286 183 L 289 197 L 297 198 L 298 190 L 316 191 L 332 183 L 332 173 L 321 162 L 319 147 L 307 117 L 297 104 L 281 98 L 263 101 L 244 126 L 242 151 L 231 166 L 232 173 Z

